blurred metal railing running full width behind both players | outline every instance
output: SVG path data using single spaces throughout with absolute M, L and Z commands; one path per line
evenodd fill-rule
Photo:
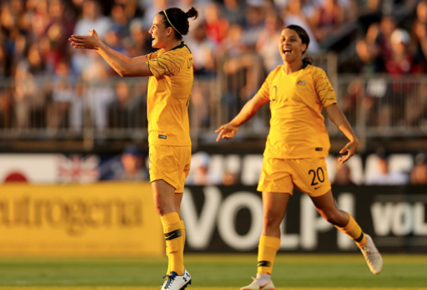
M 232 92 L 226 87 L 229 80 L 223 78 L 195 78 L 189 106 L 195 145 L 201 138 L 214 140 L 214 130 L 229 122 L 250 97 L 242 99 L 237 91 Z M 427 75 L 339 75 L 331 82 L 335 82 L 338 106 L 359 138 L 427 137 Z M 146 78 L 0 82 L 0 138 L 78 139 L 88 147 L 97 138 L 146 139 L 147 85 Z M 267 136 L 269 116 L 269 108 L 264 106 L 241 127 L 241 138 Z M 325 124 L 330 136 L 342 136 L 328 119 Z

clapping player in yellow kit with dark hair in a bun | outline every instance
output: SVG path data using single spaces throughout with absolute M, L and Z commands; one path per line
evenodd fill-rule
M 188 103 L 193 87 L 193 56 L 183 35 L 188 33 L 188 18 L 197 18 L 195 8 L 187 13 L 169 8 L 155 15 L 149 33 L 157 52 L 141 57 L 126 57 L 99 40 L 97 32 L 73 35 L 77 49 L 97 50 L 122 77 L 147 77 L 149 170 L 155 208 L 162 219 L 169 268 L 162 289 L 180 290 L 191 284 L 183 264 L 185 228 L 181 220 L 184 182 L 190 171 L 191 140 Z

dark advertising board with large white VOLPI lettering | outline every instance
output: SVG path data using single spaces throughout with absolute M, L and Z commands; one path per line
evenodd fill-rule
M 381 252 L 427 252 L 427 187 L 333 187 Z M 262 199 L 256 187 L 186 187 L 182 205 L 186 252 L 256 252 Z M 358 252 L 354 242 L 295 191 L 281 225 L 279 252 Z

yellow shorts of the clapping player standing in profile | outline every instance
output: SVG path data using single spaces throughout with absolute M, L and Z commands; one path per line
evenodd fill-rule
M 191 146 L 150 145 L 148 158 L 150 182 L 165 180 L 176 194 L 182 194 L 190 172 Z

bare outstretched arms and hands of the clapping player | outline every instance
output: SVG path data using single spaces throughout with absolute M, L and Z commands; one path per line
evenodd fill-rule
M 112 50 L 99 39 L 97 31 L 89 31 L 88 36 L 73 35 L 69 38 L 77 49 L 97 50 L 99 55 L 122 77 L 145 77 L 153 75 L 144 62 L 146 57 L 130 58 Z

